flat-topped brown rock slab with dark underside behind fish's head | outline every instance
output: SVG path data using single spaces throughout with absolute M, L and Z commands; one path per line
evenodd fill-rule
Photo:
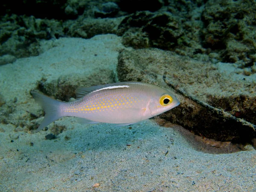
M 203 137 L 251 142 L 256 137 L 255 77 L 242 80 L 221 67 L 160 49 L 138 49 L 123 51 L 117 70 L 120 81 L 168 85 L 180 94 L 180 106 L 161 117 Z

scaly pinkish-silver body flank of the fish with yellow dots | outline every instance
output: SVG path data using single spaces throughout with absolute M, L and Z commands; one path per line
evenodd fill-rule
M 95 122 L 99 120 L 100 116 L 100 122 L 116 124 L 131 122 L 131 116 L 134 116 L 133 121 L 139 121 L 142 115 L 140 113 L 145 111 L 143 106 L 146 106 L 147 99 L 139 98 L 141 93 L 135 93 L 135 90 L 122 90 L 120 93 L 120 90 L 116 88 L 115 90 L 94 92 L 84 96 L 75 105 L 67 103 L 67 106 L 61 110 L 63 111 L 62 115 L 74 116 L 76 113 L 75 116 Z M 128 116 L 128 114 L 130 115 Z

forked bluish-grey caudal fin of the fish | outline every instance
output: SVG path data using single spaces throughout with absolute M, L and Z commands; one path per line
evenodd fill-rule
M 36 130 L 36 132 L 41 131 L 47 125 L 62 117 L 59 110 L 59 107 L 62 104 L 62 102 L 59 102 L 55 99 L 51 99 L 35 91 L 31 91 L 30 93 L 32 93 L 32 96 L 34 97 L 35 101 L 39 105 L 41 105 L 45 112 L 44 119 L 41 122 L 41 125 Z

